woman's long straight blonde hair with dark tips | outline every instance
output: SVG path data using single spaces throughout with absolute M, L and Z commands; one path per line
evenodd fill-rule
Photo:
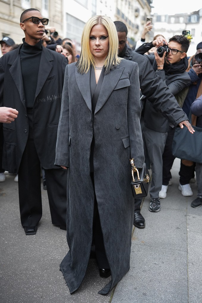
M 107 16 L 93 16 L 86 22 L 81 36 L 81 55 L 76 64 L 80 74 L 87 73 L 91 65 L 95 67 L 89 39 L 92 27 L 97 24 L 102 24 L 106 28 L 109 37 L 109 52 L 104 61 L 105 74 L 109 73 L 113 65 L 116 66 L 121 61 L 121 58 L 118 58 L 118 35 L 114 22 Z

